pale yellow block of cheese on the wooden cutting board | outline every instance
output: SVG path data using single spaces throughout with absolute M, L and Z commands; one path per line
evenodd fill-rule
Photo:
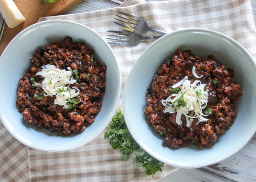
M 14 28 L 25 20 L 13 0 L 0 0 L 0 12 L 9 28 Z

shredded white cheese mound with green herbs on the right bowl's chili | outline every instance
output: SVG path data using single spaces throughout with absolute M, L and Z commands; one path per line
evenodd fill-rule
M 176 85 L 176 84 L 175 84 Z M 208 90 L 204 91 L 206 84 L 202 84 L 201 81 L 195 80 L 192 84 L 187 78 L 181 86 L 181 90 L 177 94 L 172 94 L 166 100 L 162 100 L 162 104 L 165 106 L 164 113 L 176 113 L 176 123 L 181 125 L 182 114 L 186 117 L 186 126 L 189 127 L 193 119 L 198 118 L 198 123 L 207 121 L 202 109 L 207 107 L 208 102 Z M 172 86 L 173 87 L 173 86 Z M 197 123 L 197 124 L 198 124 Z

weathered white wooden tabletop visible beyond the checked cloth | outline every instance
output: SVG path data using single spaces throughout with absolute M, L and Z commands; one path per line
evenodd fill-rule
M 65 14 L 118 7 L 120 0 L 82 0 Z M 254 22 L 256 0 L 251 0 Z M 159 182 L 256 182 L 256 135 L 241 151 L 230 158 L 198 169 L 180 169 Z

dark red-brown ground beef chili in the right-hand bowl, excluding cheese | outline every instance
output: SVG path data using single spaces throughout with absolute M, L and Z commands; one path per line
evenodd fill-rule
M 193 66 L 198 75 L 203 77 L 193 76 Z M 191 82 L 200 80 L 207 84 L 204 88 L 209 90 L 207 107 L 212 109 L 212 114 L 207 117 L 209 120 L 196 124 L 198 119 L 194 119 L 190 127 L 186 126 L 184 115 L 181 117 L 182 124 L 178 125 L 175 121 L 176 113 L 164 113 L 165 107 L 161 103 L 161 100 L 166 100 L 172 95 L 171 86 L 185 76 Z M 241 86 L 235 84 L 233 76 L 233 70 L 216 61 L 212 55 L 201 58 L 192 54 L 190 50 L 177 49 L 172 60 L 166 60 L 160 65 L 151 86 L 147 89 L 147 106 L 144 111 L 148 124 L 154 128 L 154 131 L 163 135 L 163 145 L 181 148 L 191 142 L 199 148 L 204 145 L 212 148 L 218 136 L 224 134 L 236 118 L 234 103 L 242 94 Z

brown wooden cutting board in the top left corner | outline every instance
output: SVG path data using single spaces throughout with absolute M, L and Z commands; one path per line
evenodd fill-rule
M 55 3 L 42 3 L 39 0 L 14 0 L 20 12 L 26 17 L 26 20 L 15 28 L 9 28 L 7 25 L 3 31 L 3 37 L 0 42 L 0 55 L 8 43 L 24 28 L 37 23 L 41 17 L 63 14 L 81 0 L 58 0 Z

